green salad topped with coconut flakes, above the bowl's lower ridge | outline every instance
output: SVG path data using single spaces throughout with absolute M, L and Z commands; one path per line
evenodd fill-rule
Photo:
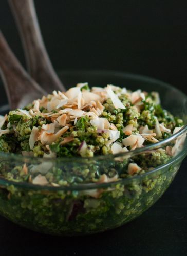
M 57 168 L 45 162 L 40 166 L 24 163 L 11 171 L 3 165 L 0 175 L 13 181 L 68 186 L 143 174 L 169 161 L 184 140 L 146 157 L 127 153 L 157 143 L 182 126 L 181 119 L 162 109 L 157 92 L 132 92 L 113 85 L 89 88 L 87 83 L 79 83 L 1 117 L 0 151 L 40 158 L 82 157 L 89 164 L 79 167 L 69 161 Z M 119 153 L 127 156 L 116 157 L 113 164 L 106 158 L 101 166 L 93 158 Z

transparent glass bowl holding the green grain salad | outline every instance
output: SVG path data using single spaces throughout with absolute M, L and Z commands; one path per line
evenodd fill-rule
M 173 136 L 156 144 L 118 155 L 94 158 L 32 158 L 0 153 L 0 167 L 7 172 L 16 166 L 42 166 L 44 170 L 66 172 L 67 179 L 80 179 L 72 186 L 40 186 L 0 178 L 0 214 L 26 228 L 55 235 L 77 236 L 121 226 L 151 207 L 169 187 L 187 152 L 185 140 L 187 98 L 176 88 L 148 77 L 113 71 L 66 71 L 60 77 L 65 86 L 89 82 L 90 86 L 108 83 L 131 90 L 158 91 L 163 108 L 184 120 L 185 126 Z M 8 106 L 1 106 L 1 114 Z M 170 160 L 152 158 L 166 146 L 174 147 L 182 140 Z M 149 161 L 149 170 L 141 175 L 113 182 L 85 184 L 82 174 L 87 169 L 100 172 L 124 172 L 122 161 L 141 156 Z M 72 174 L 77 170 L 76 177 Z

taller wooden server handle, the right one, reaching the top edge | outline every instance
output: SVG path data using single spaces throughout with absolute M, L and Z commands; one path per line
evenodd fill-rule
M 9 0 L 24 46 L 31 77 L 48 93 L 65 91 L 48 57 L 33 0 Z

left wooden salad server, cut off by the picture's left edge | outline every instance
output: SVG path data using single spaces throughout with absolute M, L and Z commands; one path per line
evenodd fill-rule
M 0 71 L 10 109 L 21 108 L 47 94 L 24 70 L 0 30 Z

